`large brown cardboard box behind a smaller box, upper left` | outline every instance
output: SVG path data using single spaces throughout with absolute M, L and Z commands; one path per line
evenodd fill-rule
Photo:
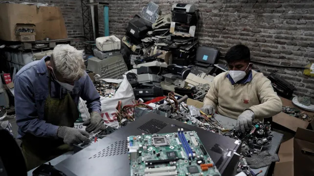
M 0 3 L 0 39 L 19 41 L 17 24 L 35 25 L 35 39 L 66 39 L 67 29 L 59 7 Z

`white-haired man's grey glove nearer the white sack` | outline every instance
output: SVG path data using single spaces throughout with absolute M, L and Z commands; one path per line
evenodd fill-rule
M 83 123 L 86 127 L 87 132 L 94 132 L 97 133 L 100 130 L 105 130 L 106 125 L 104 124 L 104 119 L 100 116 L 97 112 L 91 112 L 90 113 L 90 119 Z

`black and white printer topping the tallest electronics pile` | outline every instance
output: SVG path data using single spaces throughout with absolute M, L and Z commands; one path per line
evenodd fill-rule
M 172 21 L 194 25 L 197 24 L 197 12 L 194 4 L 175 3 L 172 5 Z

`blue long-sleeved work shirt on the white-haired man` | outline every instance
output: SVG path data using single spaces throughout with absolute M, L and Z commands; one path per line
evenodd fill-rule
M 18 138 L 23 137 L 25 133 L 37 137 L 57 136 L 59 126 L 46 123 L 44 120 L 49 81 L 45 60 L 48 59 L 50 57 L 46 56 L 23 66 L 13 79 L 16 123 L 19 126 Z M 67 89 L 51 79 L 50 95 L 52 98 L 64 98 L 67 93 Z M 76 106 L 81 97 L 87 101 L 89 112 L 101 112 L 100 96 L 87 73 L 74 82 L 74 88 L 70 95 Z

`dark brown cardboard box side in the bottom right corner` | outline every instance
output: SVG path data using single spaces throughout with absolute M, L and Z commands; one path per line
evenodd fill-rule
M 294 176 L 314 176 L 314 131 L 298 128 L 293 140 Z

